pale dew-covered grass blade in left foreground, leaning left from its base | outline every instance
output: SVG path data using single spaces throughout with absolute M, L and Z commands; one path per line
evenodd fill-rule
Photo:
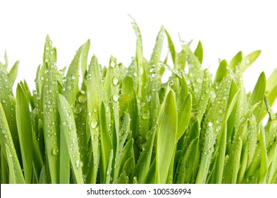
M 67 151 L 70 155 L 72 170 L 78 184 L 84 183 L 82 177 L 82 161 L 80 161 L 79 146 L 77 144 L 77 132 L 75 127 L 74 116 L 70 107 L 63 95 L 58 96 L 58 109 L 60 112 L 61 133 L 65 134 Z

